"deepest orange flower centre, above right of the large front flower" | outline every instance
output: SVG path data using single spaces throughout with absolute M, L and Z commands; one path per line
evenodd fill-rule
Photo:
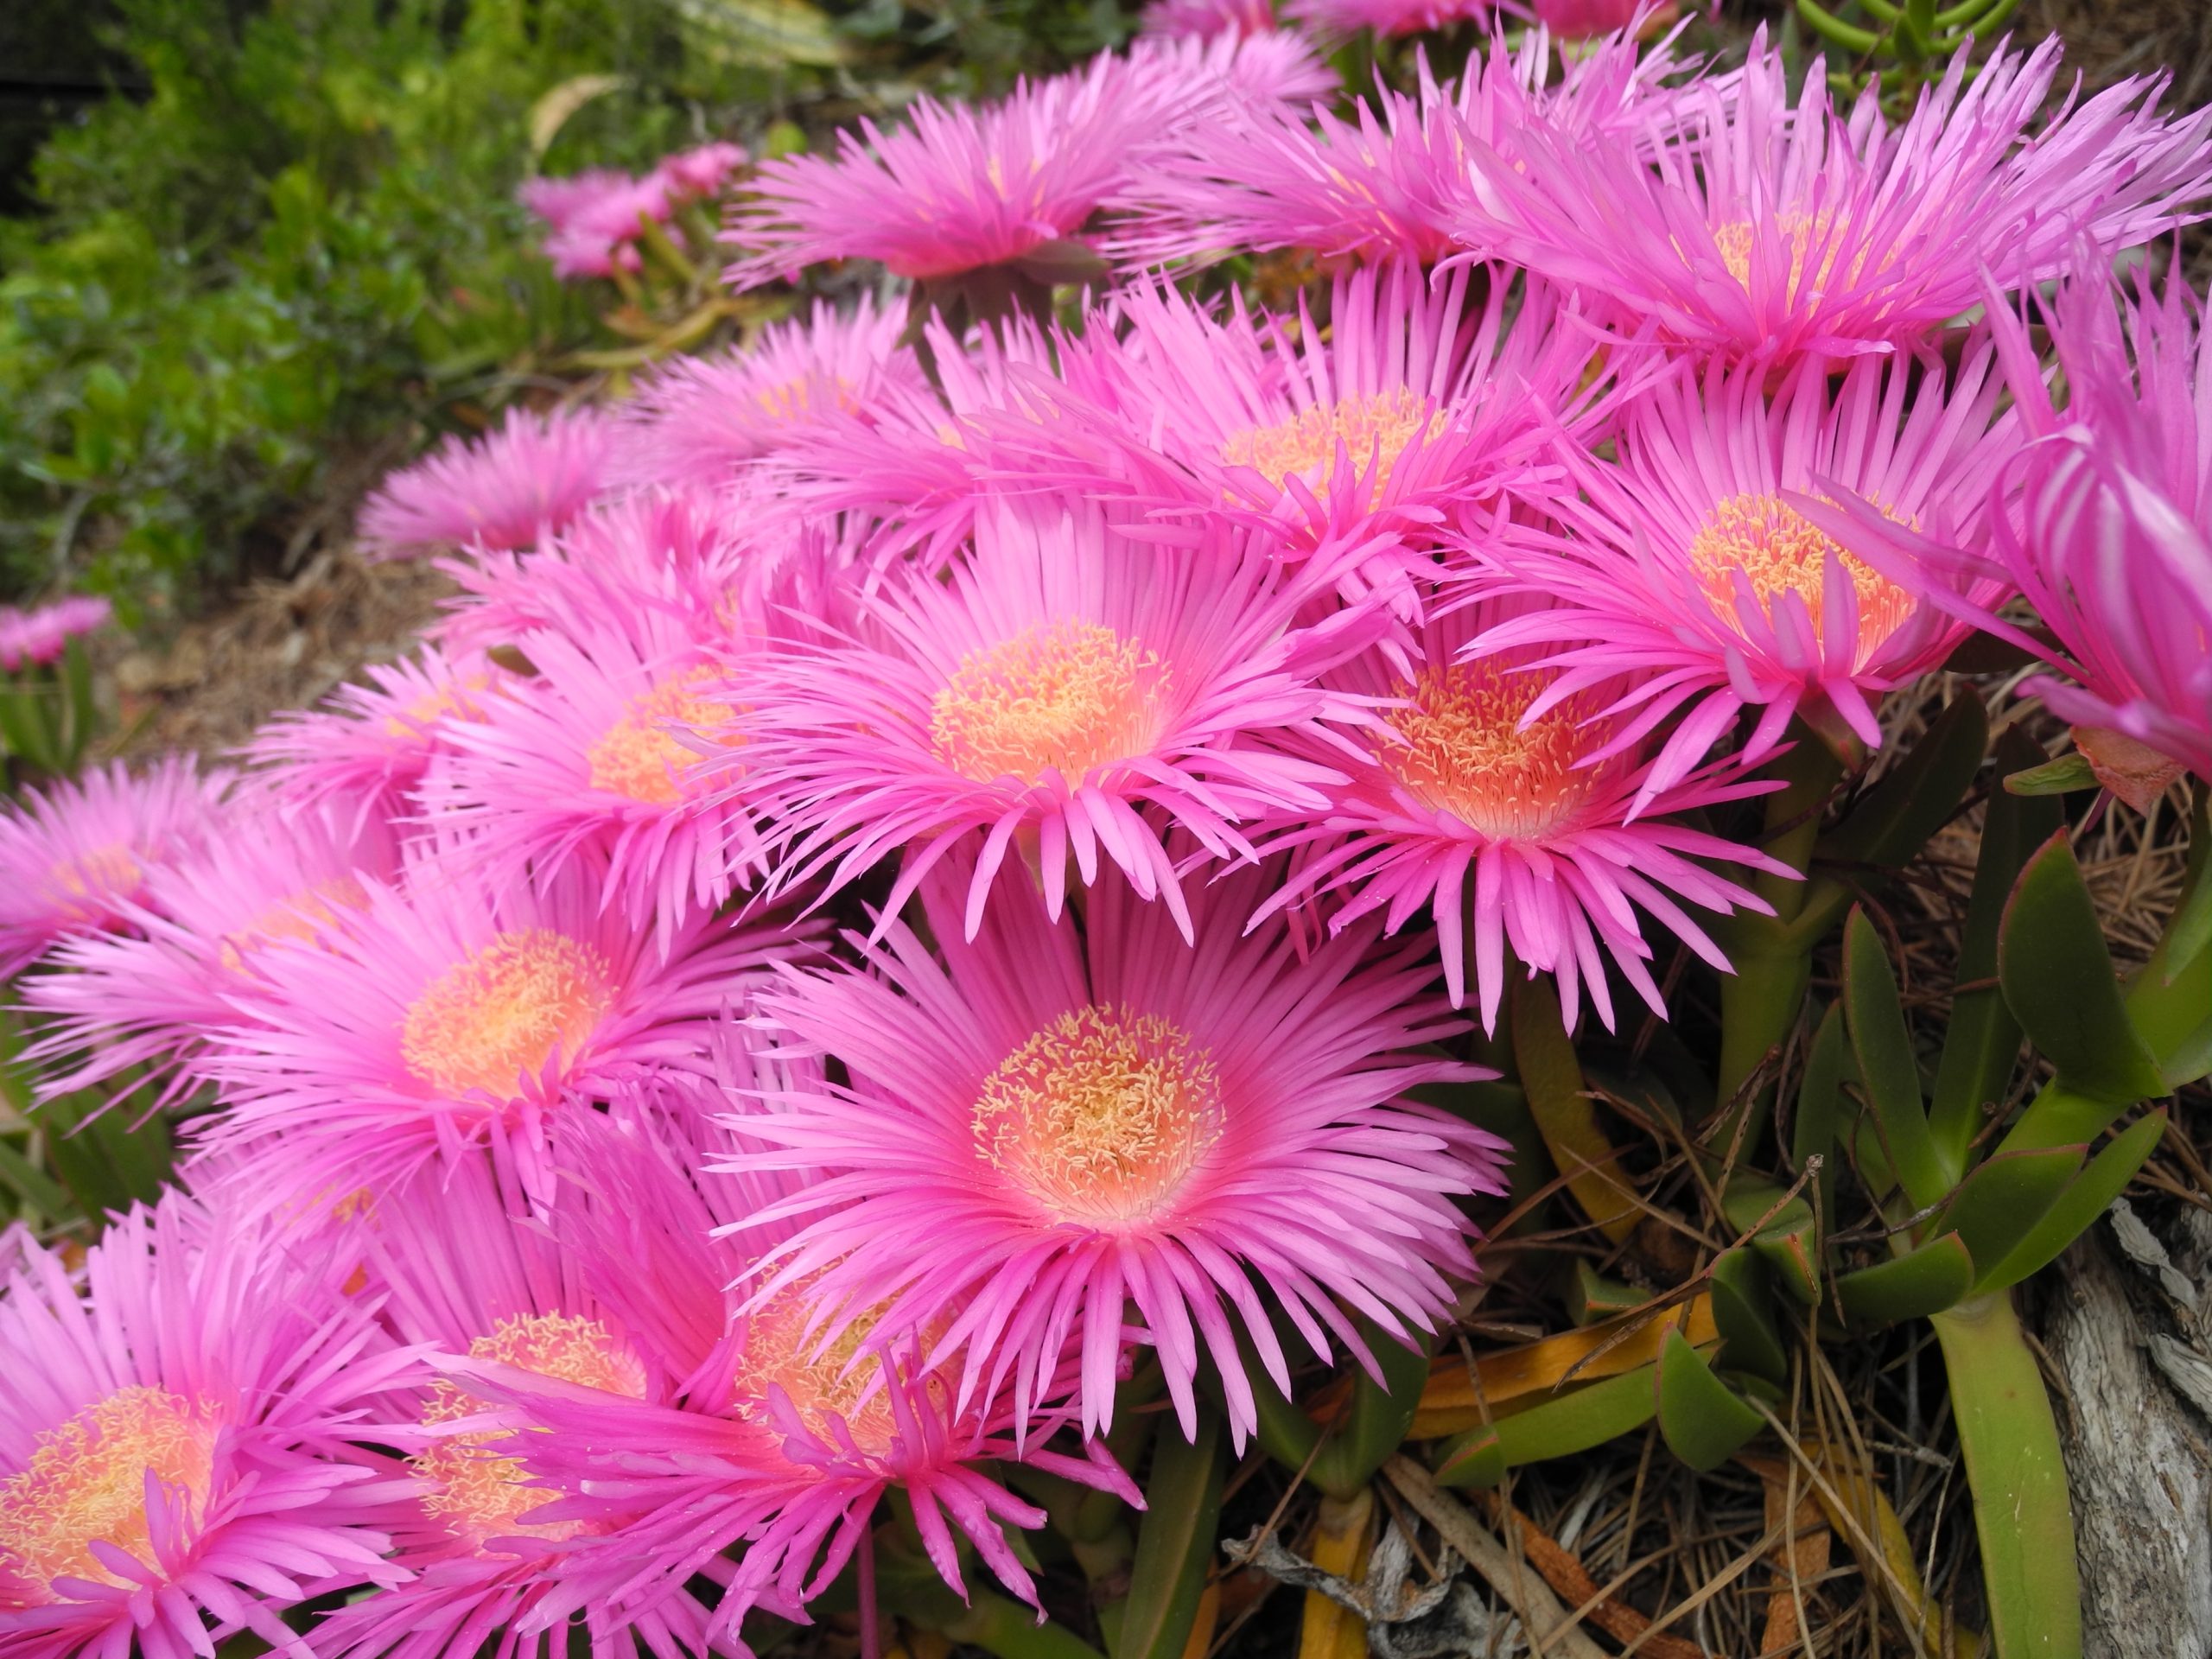
M 1411 708 L 1391 714 L 1405 748 L 1385 748 L 1391 774 L 1431 807 L 1491 841 L 1540 841 L 1588 799 L 1595 768 L 1575 770 L 1601 734 L 1584 728 L 1582 699 L 1551 708 L 1522 730 L 1522 714 L 1551 681 L 1480 659 L 1422 672 L 1396 688 Z

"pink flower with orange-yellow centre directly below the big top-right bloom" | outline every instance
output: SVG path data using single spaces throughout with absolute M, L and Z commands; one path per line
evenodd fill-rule
M 1597 765 L 1663 743 L 1630 814 L 1690 779 L 1745 710 L 1745 763 L 1803 714 L 1827 741 L 1878 748 L 1880 697 L 1938 666 L 1966 635 L 1929 599 L 1933 571 L 1885 575 L 1814 526 L 1792 498 L 1860 498 L 1942 540 L 1986 535 L 1991 484 L 2017 442 L 1997 416 L 1986 341 L 1953 374 L 1854 358 L 1829 389 L 1809 358 L 1767 394 L 1761 365 L 1683 365 L 1621 414 L 1619 460 L 1559 445 L 1579 498 L 1564 529 L 1515 529 L 1478 549 L 1486 586 L 1557 599 L 1498 622 L 1469 657 L 1517 653 L 1557 670 L 1528 703 L 1533 726 L 1577 701 L 1613 734 Z M 1969 584 L 1982 599 L 1995 584 Z M 1588 703 L 1588 695 L 1610 695 Z

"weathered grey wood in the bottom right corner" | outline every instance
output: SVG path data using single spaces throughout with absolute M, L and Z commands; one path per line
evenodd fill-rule
M 2044 1343 L 2068 1396 L 2088 1659 L 2212 1659 L 2212 1422 L 2168 1378 L 2212 1312 L 2208 1221 L 2183 1217 L 2166 1272 L 2141 1261 L 2139 1223 L 2124 1254 L 2110 1217 L 2059 1261 Z M 2174 1349 L 2163 1367 L 2157 1345 Z

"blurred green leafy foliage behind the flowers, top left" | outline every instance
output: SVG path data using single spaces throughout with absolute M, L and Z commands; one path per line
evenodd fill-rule
M 126 0 L 117 46 L 150 95 L 51 137 L 44 212 L 0 221 L 7 591 L 88 586 L 139 622 L 343 533 L 314 504 L 343 511 L 425 427 L 573 374 L 599 323 L 515 204 L 533 135 L 544 173 L 641 168 L 708 135 L 757 144 L 856 66 L 894 71 L 898 102 L 914 77 L 1002 84 L 1126 31 L 1108 0 L 241 11 Z M 580 77 L 597 95 L 533 124 Z

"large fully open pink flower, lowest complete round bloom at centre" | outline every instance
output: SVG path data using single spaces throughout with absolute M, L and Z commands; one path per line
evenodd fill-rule
M 1009 1378 L 1048 1398 L 1073 1347 L 1086 1438 L 1113 1422 L 1128 1303 L 1183 1433 L 1203 1354 L 1239 1444 L 1256 1422 L 1239 1336 L 1290 1389 L 1254 1276 L 1323 1358 L 1334 1338 L 1374 1369 L 1354 1314 L 1407 1345 L 1447 1323 L 1473 1274 L 1451 1194 L 1500 1190 L 1502 1144 L 1405 1095 L 1489 1073 L 1425 1048 L 1458 1031 L 1427 942 L 1376 956 L 1363 925 L 1301 953 L 1281 918 L 1245 936 L 1279 874 L 1208 887 L 1194 947 L 1119 876 L 1082 929 L 1000 883 L 964 942 L 953 865 L 922 887 L 938 953 L 894 925 L 874 971 L 765 993 L 852 1082 L 743 1121 L 779 1150 L 739 1168 L 821 1170 L 761 1214 L 805 1225 L 759 1294 L 805 1285 L 832 1332 L 887 1307 L 958 1356 L 962 1400 Z

